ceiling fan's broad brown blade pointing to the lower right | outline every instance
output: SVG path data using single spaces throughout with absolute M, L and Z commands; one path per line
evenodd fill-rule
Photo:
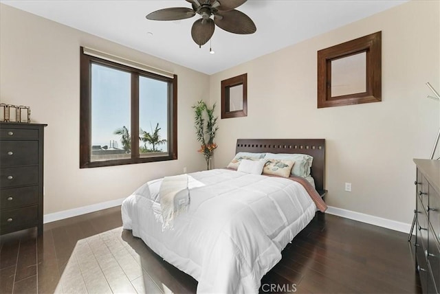
M 252 19 L 239 10 L 217 13 L 214 16 L 214 23 L 221 29 L 234 34 L 253 34 L 256 32 L 256 26 Z

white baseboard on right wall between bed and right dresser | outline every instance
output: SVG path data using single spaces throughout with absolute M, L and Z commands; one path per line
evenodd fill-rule
M 358 220 L 362 223 L 368 223 L 370 225 L 377 225 L 378 227 L 384 227 L 386 229 L 393 229 L 394 231 L 401 231 L 408 234 L 411 229 L 411 224 L 401 223 L 396 220 L 389 220 L 387 218 L 380 218 L 379 216 L 371 216 L 369 214 L 362 214 L 360 212 L 353 212 L 351 210 L 343 210 L 342 208 L 329 206 L 326 214 L 333 214 L 335 216 L 342 216 L 343 218 L 350 218 L 352 220 Z

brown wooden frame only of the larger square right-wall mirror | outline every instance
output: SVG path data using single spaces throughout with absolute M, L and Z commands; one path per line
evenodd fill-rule
M 331 61 L 366 52 L 366 91 L 331 97 Z M 318 109 L 382 101 L 382 32 L 318 51 Z

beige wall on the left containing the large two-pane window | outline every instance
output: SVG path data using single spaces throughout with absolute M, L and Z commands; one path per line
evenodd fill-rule
M 178 85 L 175 161 L 79 169 L 80 46 L 174 72 Z M 1 102 L 31 106 L 45 128 L 45 206 L 50 214 L 129 196 L 145 181 L 204 167 L 190 106 L 209 95 L 209 76 L 0 4 Z M 199 87 L 192 87 L 192 81 Z M 206 85 L 206 86 L 203 86 Z M 190 138 L 190 139 L 188 139 Z

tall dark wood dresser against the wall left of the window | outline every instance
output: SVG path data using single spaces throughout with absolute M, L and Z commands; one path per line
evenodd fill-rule
M 31 227 L 43 233 L 45 126 L 0 123 L 0 235 Z

